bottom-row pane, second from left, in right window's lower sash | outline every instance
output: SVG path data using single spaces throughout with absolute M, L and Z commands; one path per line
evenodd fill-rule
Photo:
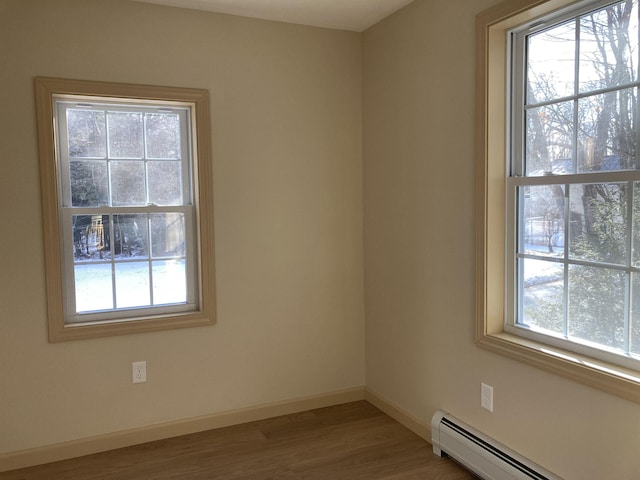
M 569 267 L 569 335 L 624 348 L 625 273 L 608 268 Z

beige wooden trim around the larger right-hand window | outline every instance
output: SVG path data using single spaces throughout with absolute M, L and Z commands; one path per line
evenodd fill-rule
M 476 343 L 640 403 L 640 373 L 505 328 L 507 32 L 572 0 L 507 0 L 476 17 Z

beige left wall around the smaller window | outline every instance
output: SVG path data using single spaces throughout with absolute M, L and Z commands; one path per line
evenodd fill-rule
M 0 45 L 0 454 L 364 384 L 359 34 L 0 0 Z M 209 90 L 217 325 L 47 343 L 35 76 Z

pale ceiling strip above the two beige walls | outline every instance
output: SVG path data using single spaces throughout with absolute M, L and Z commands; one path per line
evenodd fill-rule
M 135 0 L 362 32 L 413 0 Z

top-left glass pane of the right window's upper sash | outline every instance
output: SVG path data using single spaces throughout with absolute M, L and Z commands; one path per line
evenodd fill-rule
M 575 22 L 530 35 L 527 43 L 527 104 L 574 94 Z

